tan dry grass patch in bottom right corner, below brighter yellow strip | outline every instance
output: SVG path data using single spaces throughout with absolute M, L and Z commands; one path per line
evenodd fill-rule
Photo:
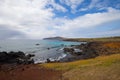
M 73 69 L 63 76 L 69 80 L 120 80 L 120 64 Z

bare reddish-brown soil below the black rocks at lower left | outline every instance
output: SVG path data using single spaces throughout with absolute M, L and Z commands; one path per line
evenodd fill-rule
M 62 80 L 62 71 L 46 69 L 37 64 L 0 65 L 0 80 Z

